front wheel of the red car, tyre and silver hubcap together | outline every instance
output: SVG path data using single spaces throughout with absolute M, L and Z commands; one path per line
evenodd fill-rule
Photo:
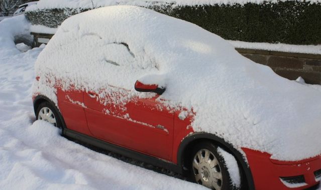
M 236 189 L 224 157 L 211 142 L 196 144 L 190 156 L 190 180 L 211 189 Z

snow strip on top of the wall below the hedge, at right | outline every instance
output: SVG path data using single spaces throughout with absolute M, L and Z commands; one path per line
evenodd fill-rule
M 228 40 L 236 48 L 263 49 L 282 52 L 321 54 L 319 45 L 292 45 L 285 43 L 263 43 Z

